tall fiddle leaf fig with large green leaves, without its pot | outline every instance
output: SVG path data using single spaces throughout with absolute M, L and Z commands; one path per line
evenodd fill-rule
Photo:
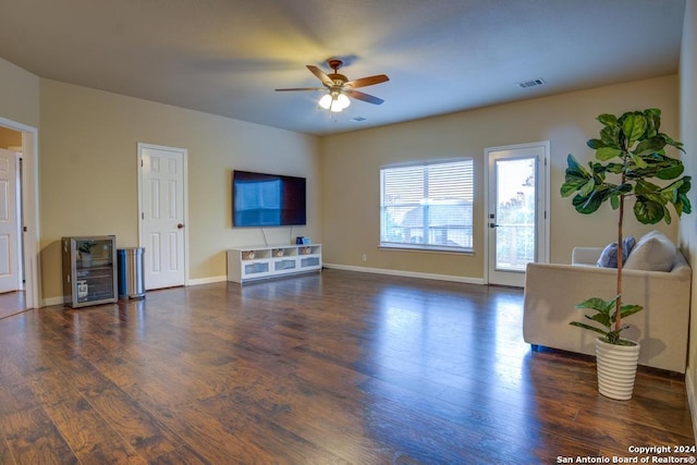
M 660 110 L 629 111 L 619 118 L 603 113 L 597 120 L 603 125 L 600 137 L 587 142 L 588 147 L 596 151 L 595 161 L 589 161 L 586 168 L 570 154 L 560 193 L 562 197 L 573 195 L 572 204 L 579 213 L 591 215 L 606 201 L 617 210 L 616 295 L 610 301 L 591 297 L 576 305 L 576 308 L 595 310 L 586 318 L 600 323 L 604 330 L 577 321 L 571 325 L 599 332 L 611 344 L 626 345 L 631 342 L 620 338 L 621 331 L 627 328 L 622 326 L 622 319 L 643 307 L 622 302 L 625 200 L 634 200 L 634 216 L 640 223 L 665 221 L 670 224 L 669 206 L 672 205 L 677 217 L 692 211 L 687 198 L 690 176 L 683 175 L 684 167 L 680 159 L 665 152 L 667 146 L 685 150 L 682 143 L 660 132 Z

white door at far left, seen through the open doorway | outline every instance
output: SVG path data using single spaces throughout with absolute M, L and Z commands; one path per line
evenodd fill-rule
M 0 148 L 0 292 L 22 289 L 19 156 Z

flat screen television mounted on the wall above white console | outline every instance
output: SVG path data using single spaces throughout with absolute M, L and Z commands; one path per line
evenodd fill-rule
M 305 178 L 233 171 L 232 225 L 306 224 Z

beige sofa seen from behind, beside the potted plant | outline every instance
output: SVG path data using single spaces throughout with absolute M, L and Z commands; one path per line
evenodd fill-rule
M 596 265 L 602 250 L 577 247 L 573 265 L 527 266 L 523 336 L 534 348 L 595 355 L 597 333 L 568 323 L 586 320 L 587 310 L 575 308 L 579 302 L 615 295 L 616 269 Z M 629 328 L 622 333 L 641 344 L 639 365 L 685 372 L 690 282 L 692 269 L 678 250 L 670 271 L 623 270 L 624 302 L 644 306 L 644 311 L 623 321 Z

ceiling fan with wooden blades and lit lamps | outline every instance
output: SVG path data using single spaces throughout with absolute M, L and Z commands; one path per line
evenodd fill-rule
M 307 65 L 310 73 L 317 76 L 325 87 L 292 87 L 276 90 L 329 90 L 329 93 L 322 96 L 319 100 L 319 106 L 330 111 L 342 111 L 344 108 L 348 107 L 351 102 L 347 97 L 374 105 L 380 105 L 384 101 L 381 98 L 355 89 L 357 87 L 367 87 L 390 81 L 387 75 L 376 74 L 375 76 L 348 81 L 346 76 L 339 74 L 339 69 L 344 64 L 343 61 L 339 59 L 329 59 L 327 60 L 327 64 L 329 64 L 329 68 L 333 70 L 333 73 L 325 74 L 325 72 L 319 68 L 311 64 Z

